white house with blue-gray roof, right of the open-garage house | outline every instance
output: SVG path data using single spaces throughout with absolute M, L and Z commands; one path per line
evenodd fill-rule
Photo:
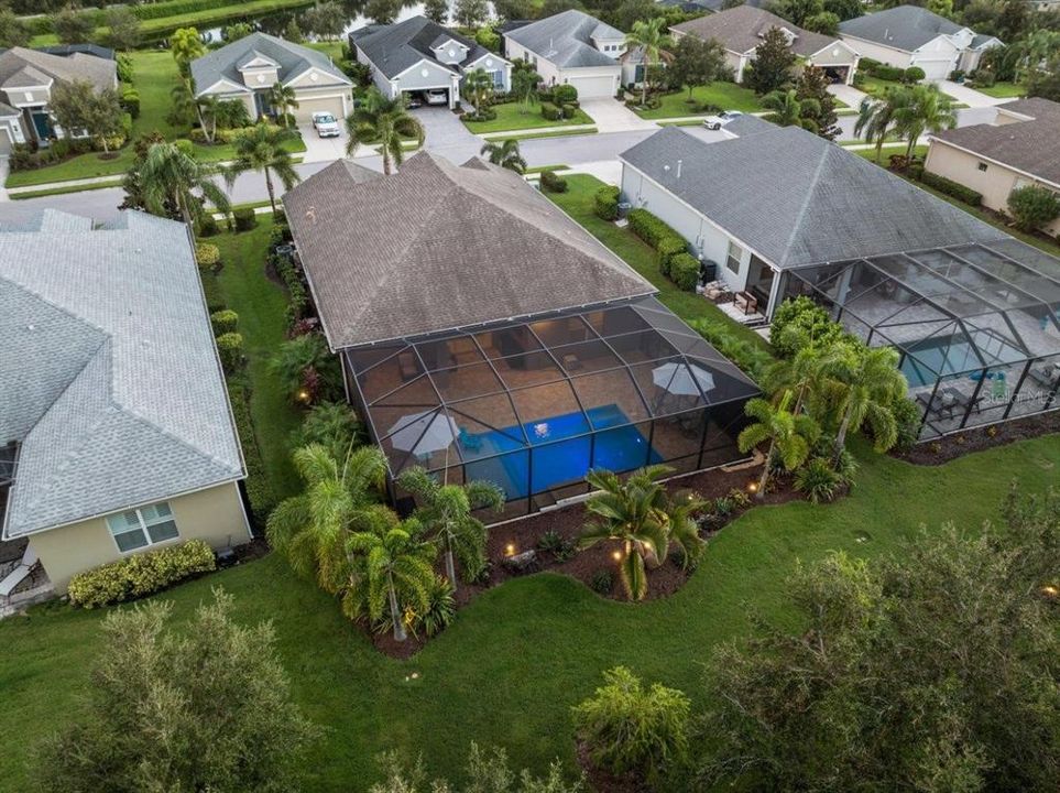
M 625 33 L 583 11 L 564 11 L 504 32 L 504 54 L 534 65 L 546 85 L 572 85 L 581 99 L 613 97 L 623 75 Z

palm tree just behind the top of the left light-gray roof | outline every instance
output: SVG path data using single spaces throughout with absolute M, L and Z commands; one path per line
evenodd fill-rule
M 228 214 L 231 209 L 228 196 L 210 178 L 215 173 L 175 143 L 153 143 L 140 169 L 144 207 L 160 217 L 168 217 L 167 204 L 176 207 L 194 235 L 194 224 L 204 213 L 204 198 L 219 211 Z

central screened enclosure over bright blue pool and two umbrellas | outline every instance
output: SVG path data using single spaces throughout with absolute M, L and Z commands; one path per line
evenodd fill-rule
M 743 406 L 758 393 L 655 298 L 343 355 L 391 474 L 493 481 L 507 498 L 498 520 L 587 492 L 593 467 L 684 472 L 740 459 Z

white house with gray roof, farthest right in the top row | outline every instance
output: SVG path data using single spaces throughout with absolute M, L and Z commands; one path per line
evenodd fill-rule
M 925 79 L 948 79 L 955 69 L 971 72 L 983 53 L 1002 42 L 939 17 L 919 6 L 896 6 L 841 22 L 843 41 L 881 63 L 919 66 Z

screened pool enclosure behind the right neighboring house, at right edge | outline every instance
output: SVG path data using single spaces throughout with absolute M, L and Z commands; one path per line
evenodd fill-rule
M 1016 239 L 791 270 L 871 346 L 890 346 L 920 438 L 1060 408 L 1060 261 Z

